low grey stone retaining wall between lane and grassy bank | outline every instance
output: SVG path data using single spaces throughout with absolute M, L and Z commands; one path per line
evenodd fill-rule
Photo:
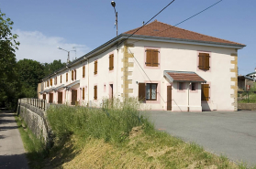
M 28 103 L 19 102 L 17 114 L 26 122 L 28 129 L 33 132 L 37 138 L 42 139 L 47 146 L 50 145 L 51 131 L 45 111 Z

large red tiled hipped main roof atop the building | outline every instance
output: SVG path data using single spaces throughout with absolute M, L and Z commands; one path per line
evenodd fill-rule
M 139 27 L 138 27 L 139 28 Z M 124 34 L 133 34 L 138 28 L 129 30 Z M 241 45 L 237 42 L 228 41 L 225 39 L 217 38 L 217 37 L 209 37 L 203 34 L 198 34 L 196 32 L 185 30 L 183 28 L 171 26 L 168 24 L 161 23 L 157 20 L 151 22 L 150 24 L 143 26 L 136 32 L 134 35 L 140 36 L 150 36 L 150 37 L 171 37 L 171 38 L 179 38 L 179 39 L 187 39 L 187 40 L 195 40 L 195 41 L 204 41 L 204 42 L 214 42 L 214 43 L 224 43 L 231 45 Z

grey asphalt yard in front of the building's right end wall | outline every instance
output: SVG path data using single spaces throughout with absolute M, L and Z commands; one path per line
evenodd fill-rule
M 256 165 L 256 111 L 147 111 L 157 129 L 207 152 Z

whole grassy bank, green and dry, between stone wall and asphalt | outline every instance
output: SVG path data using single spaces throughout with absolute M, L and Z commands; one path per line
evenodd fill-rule
M 43 168 L 247 168 L 159 132 L 134 99 L 106 100 L 105 109 L 58 106 L 47 111 L 55 134 Z M 26 141 L 29 142 L 29 141 Z M 33 142 L 34 143 L 34 142 Z M 29 145 L 32 143 L 28 143 Z M 35 143 L 34 143 L 35 145 Z M 42 155 L 42 156 L 41 156 Z M 256 167 L 255 167 L 256 168 Z

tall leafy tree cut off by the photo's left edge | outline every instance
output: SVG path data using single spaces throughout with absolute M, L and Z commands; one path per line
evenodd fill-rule
M 11 32 L 13 24 L 0 10 L 0 106 L 7 107 L 17 104 L 17 91 L 20 88 L 15 55 L 19 42 L 17 35 Z

